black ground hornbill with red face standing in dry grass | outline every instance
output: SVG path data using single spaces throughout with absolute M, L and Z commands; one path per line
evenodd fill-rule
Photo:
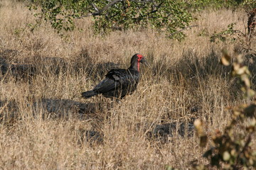
M 94 89 L 82 92 L 82 97 L 90 98 L 102 94 L 110 98 L 124 98 L 127 94 L 132 94 L 139 83 L 140 62 L 149 66 L 142 55 L 135 54 L 128 69 L 111 69 Z

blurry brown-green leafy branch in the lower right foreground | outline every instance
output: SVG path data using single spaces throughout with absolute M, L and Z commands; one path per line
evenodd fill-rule
M 223 51 L 221 64 L 230 65 L 231 56 L 228 52 Z M 255 96 L 255 91 L 251 89 L 250 72 L 242 63 L 242 56 L 238 55 L 235 62 L 233 62 L 232 74 L 238 77 L 242 85 L 242 91 L 246 98 Z M 251 104 L 242 104 L 240 106 L 229 107 L 227 110 L 233 113 L 233 118 L 225 127 L 223 132 L 215 130 L 215 134 L 211 136 L 214 147 L 208 149 L 203 157 L 209 160 L 210 164 L 193 164 L 194 169 L 203 170 L 210 167 L 217 167 L 218 169 L 241 169 L 241 168 L 256 168 L 256 152 L 250 147 L 252 144 L 252 135 L 256 130 L 256 101 Z M 245 122 L 250 119 L 249 125 Z M 203 130 L 203 122 L 196 120 L 194 123 L 198 137 L 200 137 L 200 146 L 206 147 L 208 136 Z M 238 132 L 237 129 L 240 129 Z

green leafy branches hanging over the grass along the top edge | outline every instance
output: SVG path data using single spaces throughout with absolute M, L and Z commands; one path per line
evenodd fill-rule
M 107 33 L 113 28 L 156 28 L 168 35 L 183 35 L 182 30 L 192 21 L 186 1 L 171 0 L 35 0 L 28 8 L 36 11 L 36 26 L 42 21 L 60 33 L 73 30 L 75 19 L 92 16 L 97 33 Z M 182 37 L 182 36 L 181 36 Z

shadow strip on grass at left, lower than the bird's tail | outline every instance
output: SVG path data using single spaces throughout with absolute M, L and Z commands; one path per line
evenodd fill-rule
M 21 119 L 23 116 L 34 118 L 94 118 L 101 111 L 99 103 L 82 103 L 68 99 L 43 98 L 37 101 L 26 101 L 26 106 L 16 101 L 0 101 L 1 120 Z

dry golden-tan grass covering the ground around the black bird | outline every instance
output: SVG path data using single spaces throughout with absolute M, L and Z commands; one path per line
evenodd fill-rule
M 244 12 L 195 15 L 198 27 L 186 30 L 182 42 L 152 30 L 102 38 L 93 34 L 90 18 L 77 21 L 82 31 L 60 38 L 47 24 L 31 33 L 33 15 L 24 5 L 1 1 L 0 168 L 187 169 L 195 159 L 205 162 L 191 135 L 194 118 L 205 120 L 208 133 L 223 130 L 230 120 L 225 107 L 246 102 L 230 68 L 218 62 L 221 49 L 255 63 L 239 44 L 209 42 L 209 35 L 233 22 L 244 31 Z M 151 69 L 142 67 L 132 96 L 121 103 L 81 98 L 137 52 Z M 254 75 L 252 70 L 252 82 Z

